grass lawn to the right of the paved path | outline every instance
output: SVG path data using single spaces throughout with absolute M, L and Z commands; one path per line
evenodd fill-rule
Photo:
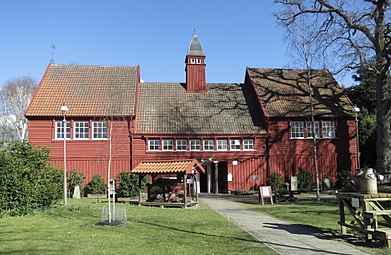
M 391 249 L 381 247 L 381 243 L 365 243 L 364 237 L 359 236 L 357 232 L 350 232 L 352 236 L 349 238 L 340 238 L 340 226 L 337 223 L 339 221 L 338 202 L 329 195 L 321 198 L 321 201 L 316 201 L 316 198 L 305 199 L 299 197 L 293 203 L 260 206 L 255 204 L 254 201 L 247 201 L 246 205 L 255 211 L 264 212 L 282 220 L 331 233 L 335 239 L 349 242 L 368 254 L 391 255 Z M 346 221 L 353 221 L 353 217 L 348 216 L 348 212 L 345 214 L 347 216 Z M 349 229 L 347 230 L 349 231 Z

